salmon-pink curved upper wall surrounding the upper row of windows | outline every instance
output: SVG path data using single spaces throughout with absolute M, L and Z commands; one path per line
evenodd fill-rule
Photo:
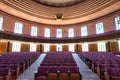
M 113 12 L 109 15 L 103 16 L 98 19 L 94 19 L 91 21 L 79 23 L 79 24 L 73 24 L 73 25 L 45 25 L 45 24 L 40 24 L 36 22 L 31 22 L 28 20 L 24 20 L 15 16 L 12 16 L 10 14 L 7 14 L 5 12 L 0 11 L 0 16 L 4 17 L 4 23 L 3 23 L 3 30 L 5 31 L 14 31 L 14 23 L 16 21 L 23 23 L 23 34 L 30 35 L 30 30 L 31 26 L 37 26 L 38 27 L 38 36 L 44 36 L 44 28 L 50 28 L 50 36 L 51 37 L 56 37 L 56 30 L 57 28 L 62 29 L 62 37 L 68 37 L 68 28 L 74 28 L 74 34 L 75 36 L 80 36 L 80 27 L 81 26 L 87 26 L 88 30 L 88 35 L 96 34 L 95 30 L 95 24 L 98 22 L 103 22 L 104 24 L 104 32 L 108 31 L 113 31 L 115 30 L 114 26 L 114 17 L 115 16 L 120 16 L 120 10 Z

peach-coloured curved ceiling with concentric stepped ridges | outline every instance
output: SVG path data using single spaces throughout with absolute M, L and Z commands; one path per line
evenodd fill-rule
M 1 0 L 0 9 L 14 16 L 38 23 L 67 25 L 89 21 L 120 10 L 120 1 L 85 0 L 73 6 L 58 8 L 45 6 L 33 0 Z M 62 14 L 63 20 L 56 20 L 56 14 Z

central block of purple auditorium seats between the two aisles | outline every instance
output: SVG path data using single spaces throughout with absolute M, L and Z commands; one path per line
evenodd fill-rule
M 43 77 L 43 80 L 54 80 L 50 77 L 52 73 L 57 76 L 55 80 L 74 80 L 71 78 L 72 74 L 79 75 L 78 80 L 81 80 L 79 68 L 71 52 L 47 52 L 35 73 L 35 80 L 41 80 Z M 66 74 L 67 79 L 62 79 L 62 74 Z

